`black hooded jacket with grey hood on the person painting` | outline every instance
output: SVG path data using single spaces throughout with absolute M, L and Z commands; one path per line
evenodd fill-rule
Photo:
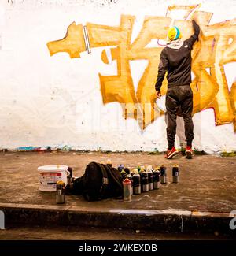
M 198 39 L 200 28 L 193 20 L 194 35 L 185 41 L 175 40 L 166 46 L 160 54 L 160 64 L 158 67 L 156 91 L 164 80 L 165 72 L 168 72 L 168 86 L 190 84 L 191 80 L 191 50 Z

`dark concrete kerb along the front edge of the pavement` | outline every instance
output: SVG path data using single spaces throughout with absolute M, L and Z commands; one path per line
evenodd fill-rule
M 123 210 L 79 206 L 45 206 L 0 203 L 8 225 L 94 226 L 134 228 L 156 232 L 204 232 L 236 235 L 229 227 L 229 213 L 187 210 Z

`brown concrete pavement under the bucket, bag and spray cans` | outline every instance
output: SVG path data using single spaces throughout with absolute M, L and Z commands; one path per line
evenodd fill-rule
M 168 184 L 159 190 L 132 196 L 132 202 L 105 199 L 87 202 L 82 196 L 67 195 L 66 206 L 142 210 L 191 210 L 230 213 L 236 210 L 236 157 L 196 156 L 192 160 L 179 156 L 172 160 L 163 155 L 102 154 L 79 152 L 6 152 L 0 153 L 0 203 L 56 205 L 55 193 L 40 192 L 37 168 L 61 164 L 81 176 L 90 161 L 112 160 L 114 166 L 161 165 L 168 168 Z M 179 184 L 171 183 L 171 165 L 179 164 Z

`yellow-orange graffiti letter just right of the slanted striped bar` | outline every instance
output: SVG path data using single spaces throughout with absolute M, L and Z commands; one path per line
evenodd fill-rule
M 136 103 L 138 101 L 135 95 L 128 57 L 134 22 L 135 17 L 122 16 L 120 27 L 118 28 L 88 23 L 87 29 L 91 47 L 117 46 L 111 49 L 112 61 L 116 61 L 117 75 L 101 76 L 99 74 L 103 103 L 120 102 L 124 104 L 124 118 L 132 115 L 137 119 L 138 109 L 136 108 Z M 101 58 L 107 63 L 105 51 L 102 52 Z

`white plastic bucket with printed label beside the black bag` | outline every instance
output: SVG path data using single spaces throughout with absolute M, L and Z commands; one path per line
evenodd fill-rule
M 67 165 L 43 165 L 38 167 L 39 191 L 56 191 L 57 181 L 62 180 L 67 185 Z

